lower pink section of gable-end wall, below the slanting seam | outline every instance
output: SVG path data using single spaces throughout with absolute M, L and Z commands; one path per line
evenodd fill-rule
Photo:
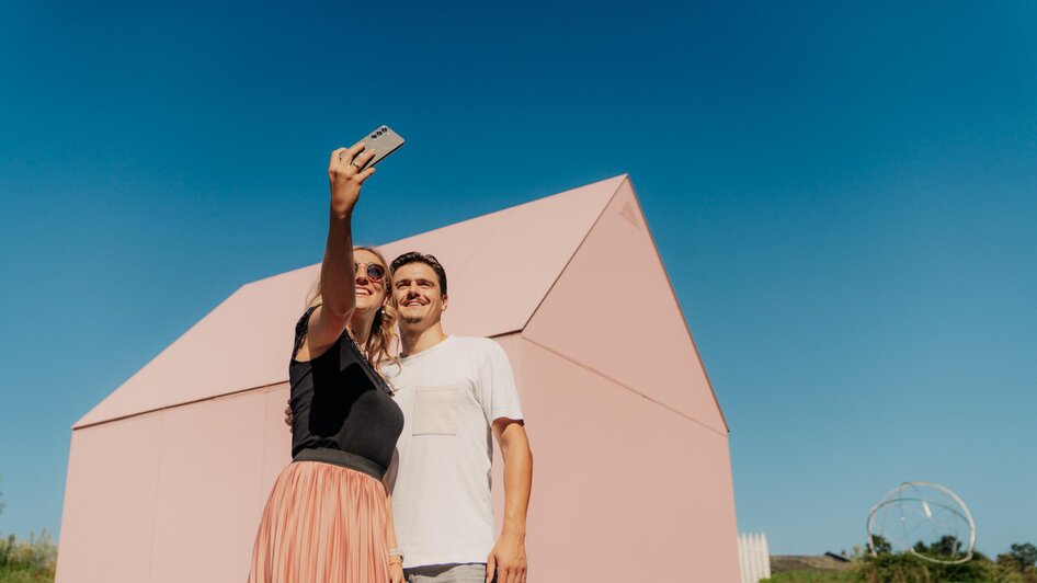
M 738 581 L 726 436 L 535 344 L 521 352 L 531 580 Z

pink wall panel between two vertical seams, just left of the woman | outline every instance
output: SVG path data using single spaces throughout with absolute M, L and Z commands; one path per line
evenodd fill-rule
M 248 575 L 267 494 L 266 401 L 255 391 L 163 412 L 151 583 Z

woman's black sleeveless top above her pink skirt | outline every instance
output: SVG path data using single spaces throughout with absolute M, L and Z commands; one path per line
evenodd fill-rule
M 349 333 L 312 361 L 295 359 L 315 309 L 295 327 L 288 365 L 292 457 L 304 449 L 330 447 L 388 468 L 403 430 L 403 413 Z

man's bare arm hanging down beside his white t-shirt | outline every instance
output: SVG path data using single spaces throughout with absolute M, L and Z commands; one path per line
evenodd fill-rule
M 533 489 L 533 451 L 522 421 L 498 419 L 493 436 L 504 458 L 504 526 L 487 558 L 486 580 L 499 583 L 526 581 L 526 511 Z

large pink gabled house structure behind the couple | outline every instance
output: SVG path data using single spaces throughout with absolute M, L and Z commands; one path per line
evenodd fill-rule
M 381 250 L 435 254 L 447 333 L 511 357 L 529 581 L 739 580 L 728 427 L 627 176 Z M 58 582 L 243 581 L 318 268 L 241 287 L 75 424 Z

